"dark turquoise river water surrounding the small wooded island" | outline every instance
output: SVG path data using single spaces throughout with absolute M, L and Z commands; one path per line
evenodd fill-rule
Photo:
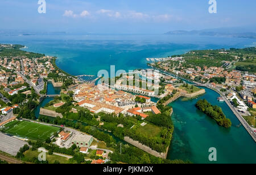
M 206 94 L 197 99 L 183 101 L 179 98 L 170 105 L 174 109 L 174 137 L 168 159 L 191 160 L 193 163 L 213 163 L 208 160 L 210 147 L 217 149 L 214 163 L 256 163 L 256 144 L 225 102 L 218 102 L 218 93 L 205 88 Z M 231 128 L 220 127 L 216 122 L 197 110 L 199 99 L 207 99 L 218 105 L 232 122 Z

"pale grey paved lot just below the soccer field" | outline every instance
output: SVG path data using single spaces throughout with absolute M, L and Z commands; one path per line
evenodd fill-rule
M 0 140 L 0 150 L 13 156 L 16 156 L 19 149 L 27 144 L 26 141 L 15 139 L 2 133 L 0 133 Z

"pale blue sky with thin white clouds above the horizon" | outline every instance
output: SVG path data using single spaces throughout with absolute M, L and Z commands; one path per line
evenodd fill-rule
M 0 29 L 100 33 L 163 33 L 172 30 L 256 25 L 255 0 L 1 0 Z

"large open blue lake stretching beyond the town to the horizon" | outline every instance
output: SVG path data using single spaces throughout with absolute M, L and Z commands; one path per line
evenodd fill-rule
M 171 35 L 0 36 L 0 43 L 26 45 L 26 51 L 57 56 L 57 66 L 73 75 L 98 70 L 147 68 L 147 57 L 167 57 L 191 49 L 249 47 L 255 39 Z

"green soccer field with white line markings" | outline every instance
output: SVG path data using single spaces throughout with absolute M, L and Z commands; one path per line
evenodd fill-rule
M 46 140 L 52 136 L 54 132 L 60 130 L 60 128 L 57 127 L 27 121 L 10 122 L 5 126 L 5 128 L 5 132 L 7 134 L 19 136 L 20 138 L 41 141 Z

